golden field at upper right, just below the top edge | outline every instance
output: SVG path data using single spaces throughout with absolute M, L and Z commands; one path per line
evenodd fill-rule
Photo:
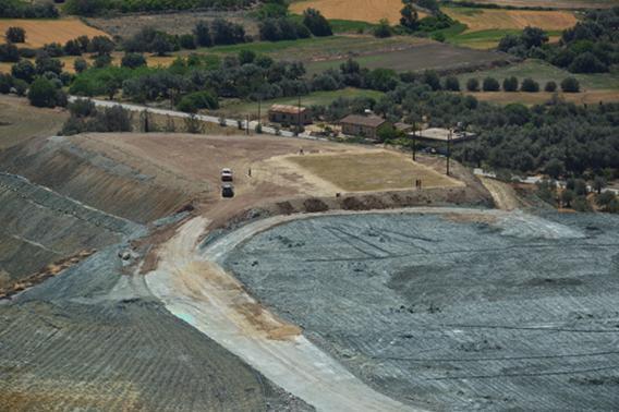
M 546 31 L 562 31 L 576 24 L 573 12 L 563 10 L 502 10 L 445 8 L 452 19 L 469 26 L 469 32 L 489 29 L 522 29 L 526 26 L 542 27 Z

